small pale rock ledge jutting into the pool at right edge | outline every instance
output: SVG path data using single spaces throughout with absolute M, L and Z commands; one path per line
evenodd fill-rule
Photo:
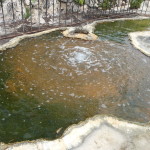
M 131 32 L 129 38 L 135 48 L 150 56 L 150 31 Z

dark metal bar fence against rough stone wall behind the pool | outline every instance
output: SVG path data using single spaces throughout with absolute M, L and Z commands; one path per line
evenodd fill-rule
M 139 14 L 150 15 L 150 0 L 0 0 L 0 39 Z

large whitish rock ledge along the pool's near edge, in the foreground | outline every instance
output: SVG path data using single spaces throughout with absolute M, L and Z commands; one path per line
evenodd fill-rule
M 2 150 L 150 150 L 150 126 L 95 116 L 69 127 L 60 139 L 1 146 Z

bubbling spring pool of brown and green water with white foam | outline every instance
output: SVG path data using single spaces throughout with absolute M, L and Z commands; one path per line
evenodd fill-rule
M 59 31 L 0 52 L 0 142 L 55 139 L 96 114 L 150 121 L 150 59 L 128 33 L 150 20 L 96 26 L 97 41 Z

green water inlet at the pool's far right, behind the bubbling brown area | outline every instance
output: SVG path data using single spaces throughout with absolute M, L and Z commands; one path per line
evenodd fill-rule
M 127 43 L 129 32 L 145 30 L 150 30 L 150 19 L 101 23 L 96 26 L 95 34 L 102 40 Z

